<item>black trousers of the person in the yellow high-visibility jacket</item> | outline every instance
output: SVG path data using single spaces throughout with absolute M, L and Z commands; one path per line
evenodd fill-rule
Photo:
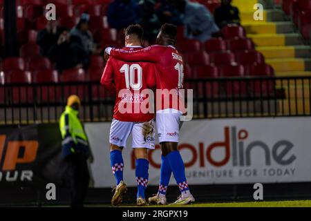
M 70 188 L 70 206 L 82 207 L 90 182 L 87 158 L 84 153 L 77 151 L 66 157 L 65 162 L 68 167 L 64 178 Z

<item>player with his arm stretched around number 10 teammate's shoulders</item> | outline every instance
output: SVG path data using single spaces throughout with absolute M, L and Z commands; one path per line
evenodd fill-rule
M 174 47 L 176 44 L 177 28 L 170 24 L 164 24 L 157 38 L 157 45 L 149 46 L 140 50 L 124 50 L 106 48 L 105 52 L 111 57 L 122 61 L 149 61 L 156 64 L 156 85 L 157 91 L 162 91 L 162 104 L 157 104 L 156 123 L 159 142 L 162 148 L 161 175 L 158 194 L 149 198 L 149 202 L 166 204 L 165 198 L 171 172 L 182 193 L 174 204 L 189 204 L 194 202 L 194 197 L 189 191 L 185 176 L 185 165 L 178 151 L 180 117 L 184 113 L 183 108 L 176 106 L 176 100 L 165 98 L 170 97 L 165 90 L 172 94 L 180 94 L 183 88 L 183 61 L 182 55 Z M 158 96 L 158 92 L 157 92 Z M 179 96 L 178 96 L 179 97 Z M 157 97 L 158 103 L 158 97 Z

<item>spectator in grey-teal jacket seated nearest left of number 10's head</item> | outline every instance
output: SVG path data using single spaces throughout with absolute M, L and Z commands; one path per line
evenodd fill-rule
M 84 49 L 84 53 L 87 55 L 99 55 L 102 50 L 97 48 L 97 44 L 93 39 L 93 35 L 90 30 L 88 30 L 88 22 L 90 21 L 90 15 L 83 13 L 79 23 L 72 30 L 70 30 L 70 35 L 79 39 L 81 47 Z

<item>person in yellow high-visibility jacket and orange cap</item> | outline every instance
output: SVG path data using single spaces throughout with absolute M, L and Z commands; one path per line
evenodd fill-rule
M 73 207 L 83 206 L 90 181 L 87 163 L 90 149 L 88 138 L 78 117 L 80 106 L 79 97 L 71 95 L 59 119 L 59 129 L 63 139 L 62 156 L 68 164 L 64 180 L 70 188 L 70 206 Z

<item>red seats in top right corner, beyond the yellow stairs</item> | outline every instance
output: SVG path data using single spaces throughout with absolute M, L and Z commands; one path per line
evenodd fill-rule
M 311 0 L 283 0 L 283 10 L 301 31 L 306 40 L 310 40 L 311 32 Z

